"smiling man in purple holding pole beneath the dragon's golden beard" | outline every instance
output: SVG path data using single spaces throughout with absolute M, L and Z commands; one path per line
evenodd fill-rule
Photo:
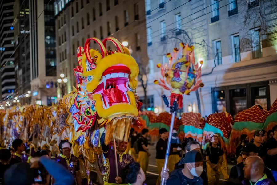
M 126 154 L 128 142 L 115 141 L 113 143 L 113 149 L 105 145 L 106 130 L 100 138 L 103 154 L 106 158 L 106 167 L 104 175 L 104 185 L 116 185 L 122 183 L 124 179 L 119 176 L 122 170 L 130 163 L 134 162 L 134 158 L 129 154 Z M 116 146 L 116 147 L 114 147 Z M 116 155 L 115 155 L 116 154 Z

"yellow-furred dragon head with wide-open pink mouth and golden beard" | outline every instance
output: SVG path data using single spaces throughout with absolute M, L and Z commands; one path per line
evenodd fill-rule
M 91 41 L 101 51 L 90 49 Z M 108 51 L 107 41 L 114 43 L 116 50 Z M 74 69 L 77 112 L 73 115 L 78 123 L 76 131 L 85 131 L 98 122 L 99 127 L 106 127 L 106 144 L 112 138 L 127 141 L 132 120 L 139 120 L 140 104 L 135 93 L 138 64 L 113 37 L 102 42 L 97 38 L 87 39 L 84 47 L 78 47 L 77 58 L 79 65 Z

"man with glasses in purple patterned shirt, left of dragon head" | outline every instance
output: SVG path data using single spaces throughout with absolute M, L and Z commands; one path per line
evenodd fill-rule
M 72 175 L 74 175 L 77 185 L 82 185 L 79 159 L 71 154 L 71 146 L 69 141 L 62 140 L 59 144 L 61 154 L 56 158 L 56 161 L 66 167 Z

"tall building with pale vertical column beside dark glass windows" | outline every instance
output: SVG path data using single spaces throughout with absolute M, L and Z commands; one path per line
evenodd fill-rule
M 29 1 L 31 103 L 57 101 L 54 0 Z

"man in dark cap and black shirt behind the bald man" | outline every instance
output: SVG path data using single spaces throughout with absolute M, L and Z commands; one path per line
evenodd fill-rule
M 245 145 L 243 145 L 243 148 L 240 153 L 243 162 L 241 162 L 231 168 L 229 180 L 237 181 L 237 182 L 243 181 L 245 179 L 244 174 L 243 174 L 243 167 L 244 167 L 245 160 L 250 156 L 257 156 L 258 152 L 259 152 L 258 148 L 254 143 L 246 143 Z M 271 171 L 267 167 L 264 168 L 264 173 L 267 175 L 267 177 L 269 179 L 271 179 L 273 182 L 275 182 Z

